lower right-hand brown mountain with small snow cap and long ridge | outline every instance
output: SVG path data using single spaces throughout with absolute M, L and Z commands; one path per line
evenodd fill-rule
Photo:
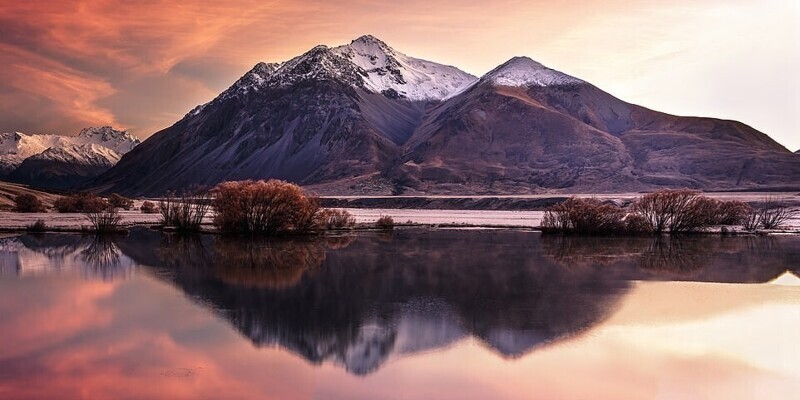
M 395 176 L 417 191 L 798 186 L 800 163 L 744 124 L 625 103 L 514 58 L 431 112 Z

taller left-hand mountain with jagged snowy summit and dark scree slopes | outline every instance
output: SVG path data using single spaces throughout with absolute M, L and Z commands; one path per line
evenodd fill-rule
M 475 79 L 371 36 L 317 46 L 281 64 L 256 65 L 95 186 L 158 194 L 231 179 L 312 184 L 376 175 L 399 156 L 429 104 Z

